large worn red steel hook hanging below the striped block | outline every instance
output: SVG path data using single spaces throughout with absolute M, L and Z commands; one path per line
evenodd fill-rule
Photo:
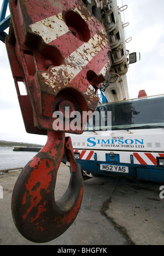
M 55 201 L 55 184 L 63 154 L 71 164 L 66 193 Z M 28 240 L 37 243 L 54 240 L 76 218 L 83 197 L 83 176 L 75 163 L 71 138 L 48 131 L 42 150 L 25 166 L 16 181 L 11 208 L 14 223 Z

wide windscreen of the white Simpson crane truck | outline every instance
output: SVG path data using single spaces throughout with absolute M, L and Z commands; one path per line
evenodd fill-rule
M 107 112 L 112 111 L 112 130 L 164 128 L 164 96 L 100 104 L 97 111 L 99 112 L 99 119 L 103 115 L 106 125 Z M 98 123 L 97 117 L 98 115 L 95 115 L 89 120 L 85 131 L 104 130 L 100 120 Z

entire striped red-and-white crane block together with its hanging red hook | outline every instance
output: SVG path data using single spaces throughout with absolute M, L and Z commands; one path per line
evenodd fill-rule
M 83 133 L 96 110 L 97 90 L 111 66 L 111 48 L 104 26 L 82 0 L 9 0 L 9 7 L 5 44 L 26 131 L 48 135 L 17 179 L 11 209 L 20 233 L 42 243 L 65 232 L 78 214 L 83 176 L 65 132 Z M 56 121 L 58 113 L 61 123 Z M 72 113 L 80 113 L 75 129 Z M 55 200 L 63 154 L 71 164 L 71 178 L 66 193 Z

